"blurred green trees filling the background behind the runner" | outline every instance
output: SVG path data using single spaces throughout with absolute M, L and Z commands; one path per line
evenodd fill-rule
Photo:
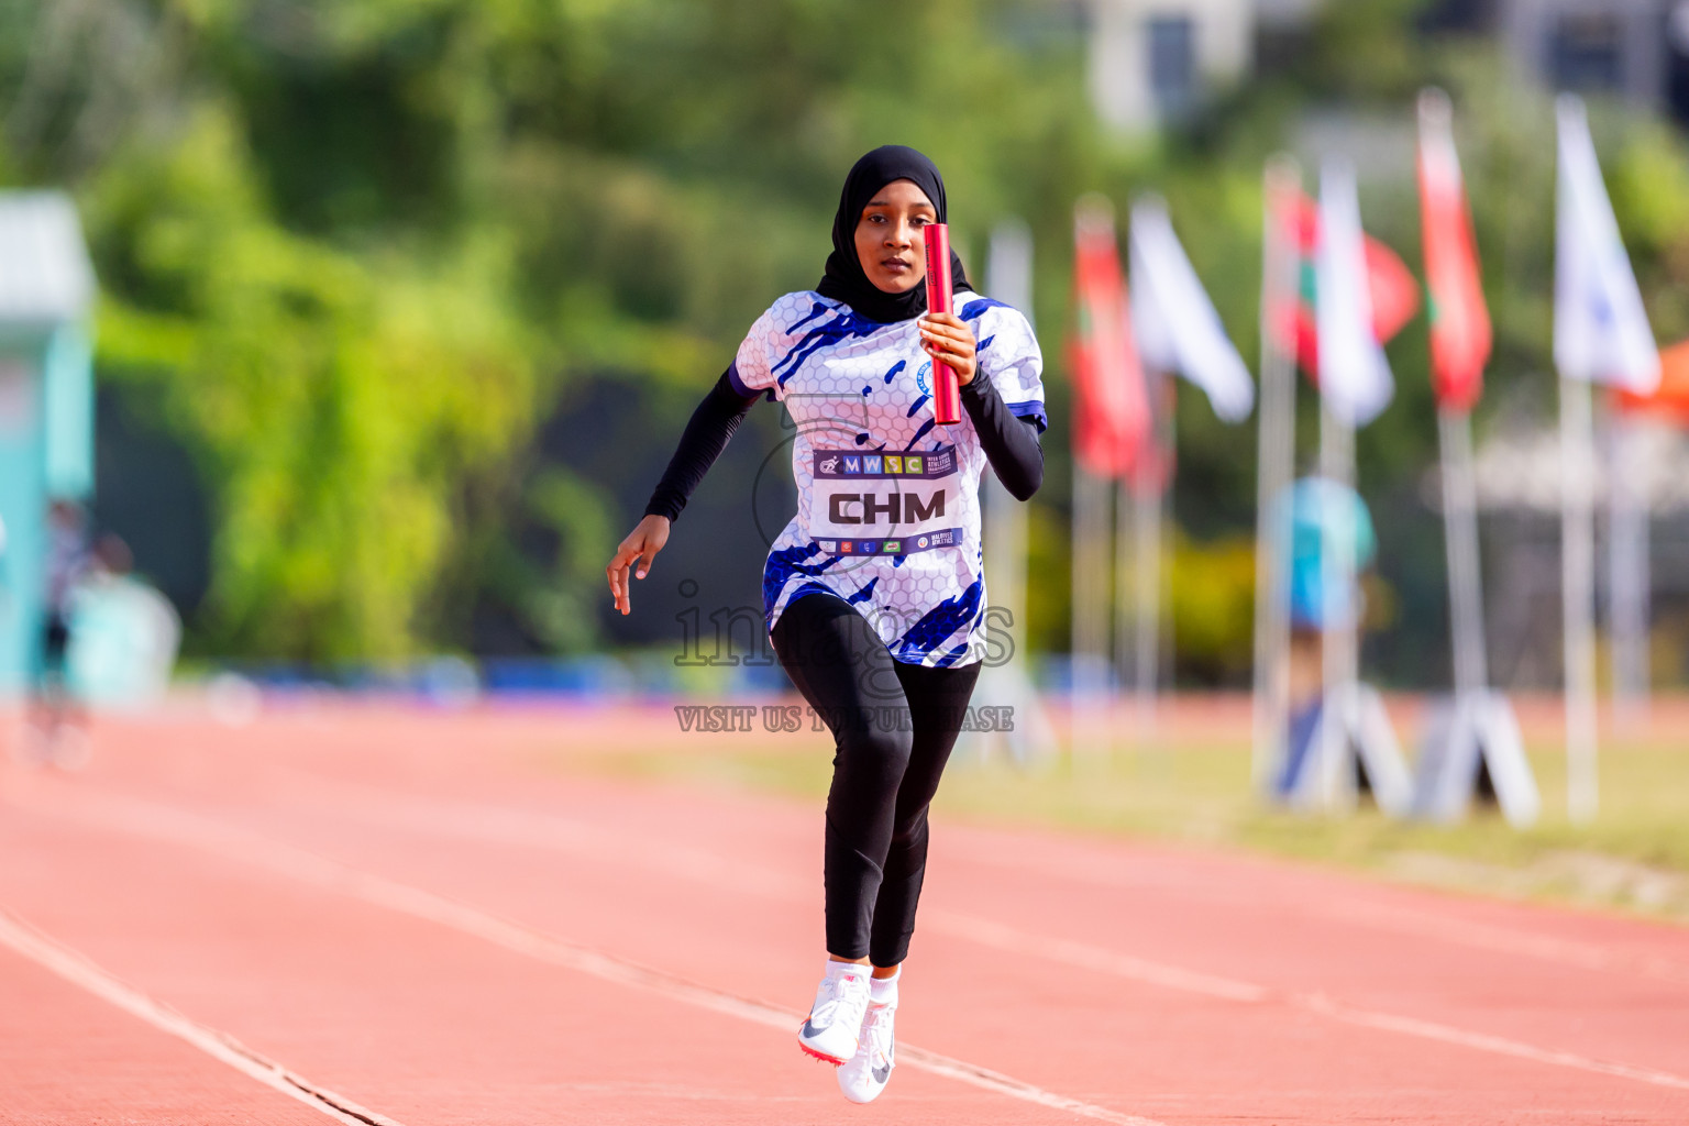
M 1417 268 L 1412 95 L 1441 83 L 1496 322 L 1480 425 L 1552 403 L 1549 101 L 1486 44 L 1422 34 L 1426 7 L 1326 5 L 1189 123 L 1118 138 L 1088 105 L 1078 10 L 1039 0 L 24 0 L 0 7 L 0 182 L 78 194 L 101 378 L 157 402 L 199 466 L 215 508 L 201 652 L 468 648 L 488 613 L 512 645 L 573 652 L 606 636 L 600 559 L 649 486 L 632 478 L 667 456 L 768 300 L 814 284 L 843 171 L 877 143 L 922 147 L 971 263 L 1005 214 L 1037 240 L 1056 425 L 1029 616 L 1034 648 L 1061 650 L 1079 192 L 1123 216 L 1160 191 L 1253 363 L 1267 154 L 1312 167 L 1333 135 L 1365 135 L 1383 159 L 1363 218 Z M 1682 138 L 1596 110 L 1655 329 L 1679 339 Z M 1419 500 L 1436 434 L 1424 322 L 1390 355 L 1398 398 L 1360 457 L 1405 608 L 1375 643 L 1405 679 L 1444 650 L 1441 537 Z M 642 412 L 608 452 L 559 425 L 605 430 L 603 388 Z M 1301 407 L 1311 442 L 1312 397 Z M 1252 427 L 1186 392 L 1177 449 L 1182 672 L 1236 677 Z M 757 459 L 725 471 L 748 495 Z

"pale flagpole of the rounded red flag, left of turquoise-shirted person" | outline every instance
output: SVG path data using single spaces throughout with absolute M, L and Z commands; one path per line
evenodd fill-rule
M 1285 675 L 1290 647 L 1289 520 L 1280 520 L 1290 478 L 1295 473 L 1295 356 L 1282 348 L 1279 319 L 1295 294 L 1297 255 L 1284 231 L 1289 201 L 1302 189 L 1302 169 L 1290 157 L 1274 157 L 1265 172 L 1265 218 L 1262 236 L 1260 309 L 1260 437 L 1255 476 L 1255 738 L 1250 773 L 1255 788 L 1265 790 L 1274 756 L 1287 738 L 1290 682 Z

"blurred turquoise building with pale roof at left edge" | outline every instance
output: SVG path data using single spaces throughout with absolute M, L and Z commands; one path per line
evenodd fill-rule
M 93 297 L 69 198 L 0 192 L 0 696 L 41 660 L 47 505 L 93 493 Z

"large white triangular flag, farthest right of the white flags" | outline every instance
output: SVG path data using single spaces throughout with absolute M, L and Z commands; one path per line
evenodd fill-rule
M 1561 95 L 1554 246 L 1554 365 L 1572 380 L 1640 395 L 1660 385 L 1660 349 L 1589 140 L 1583 100 Z

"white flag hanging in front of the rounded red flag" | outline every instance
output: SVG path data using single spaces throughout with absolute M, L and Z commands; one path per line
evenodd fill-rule
M 1371 290 L 1355 169 L 1328 160 L 1319 171 L 1319 252 L 1316 257 L 1319 393 L 1343 422 L 1363 427 L 1395 397 L 1383 344 L 1373 334 Z

